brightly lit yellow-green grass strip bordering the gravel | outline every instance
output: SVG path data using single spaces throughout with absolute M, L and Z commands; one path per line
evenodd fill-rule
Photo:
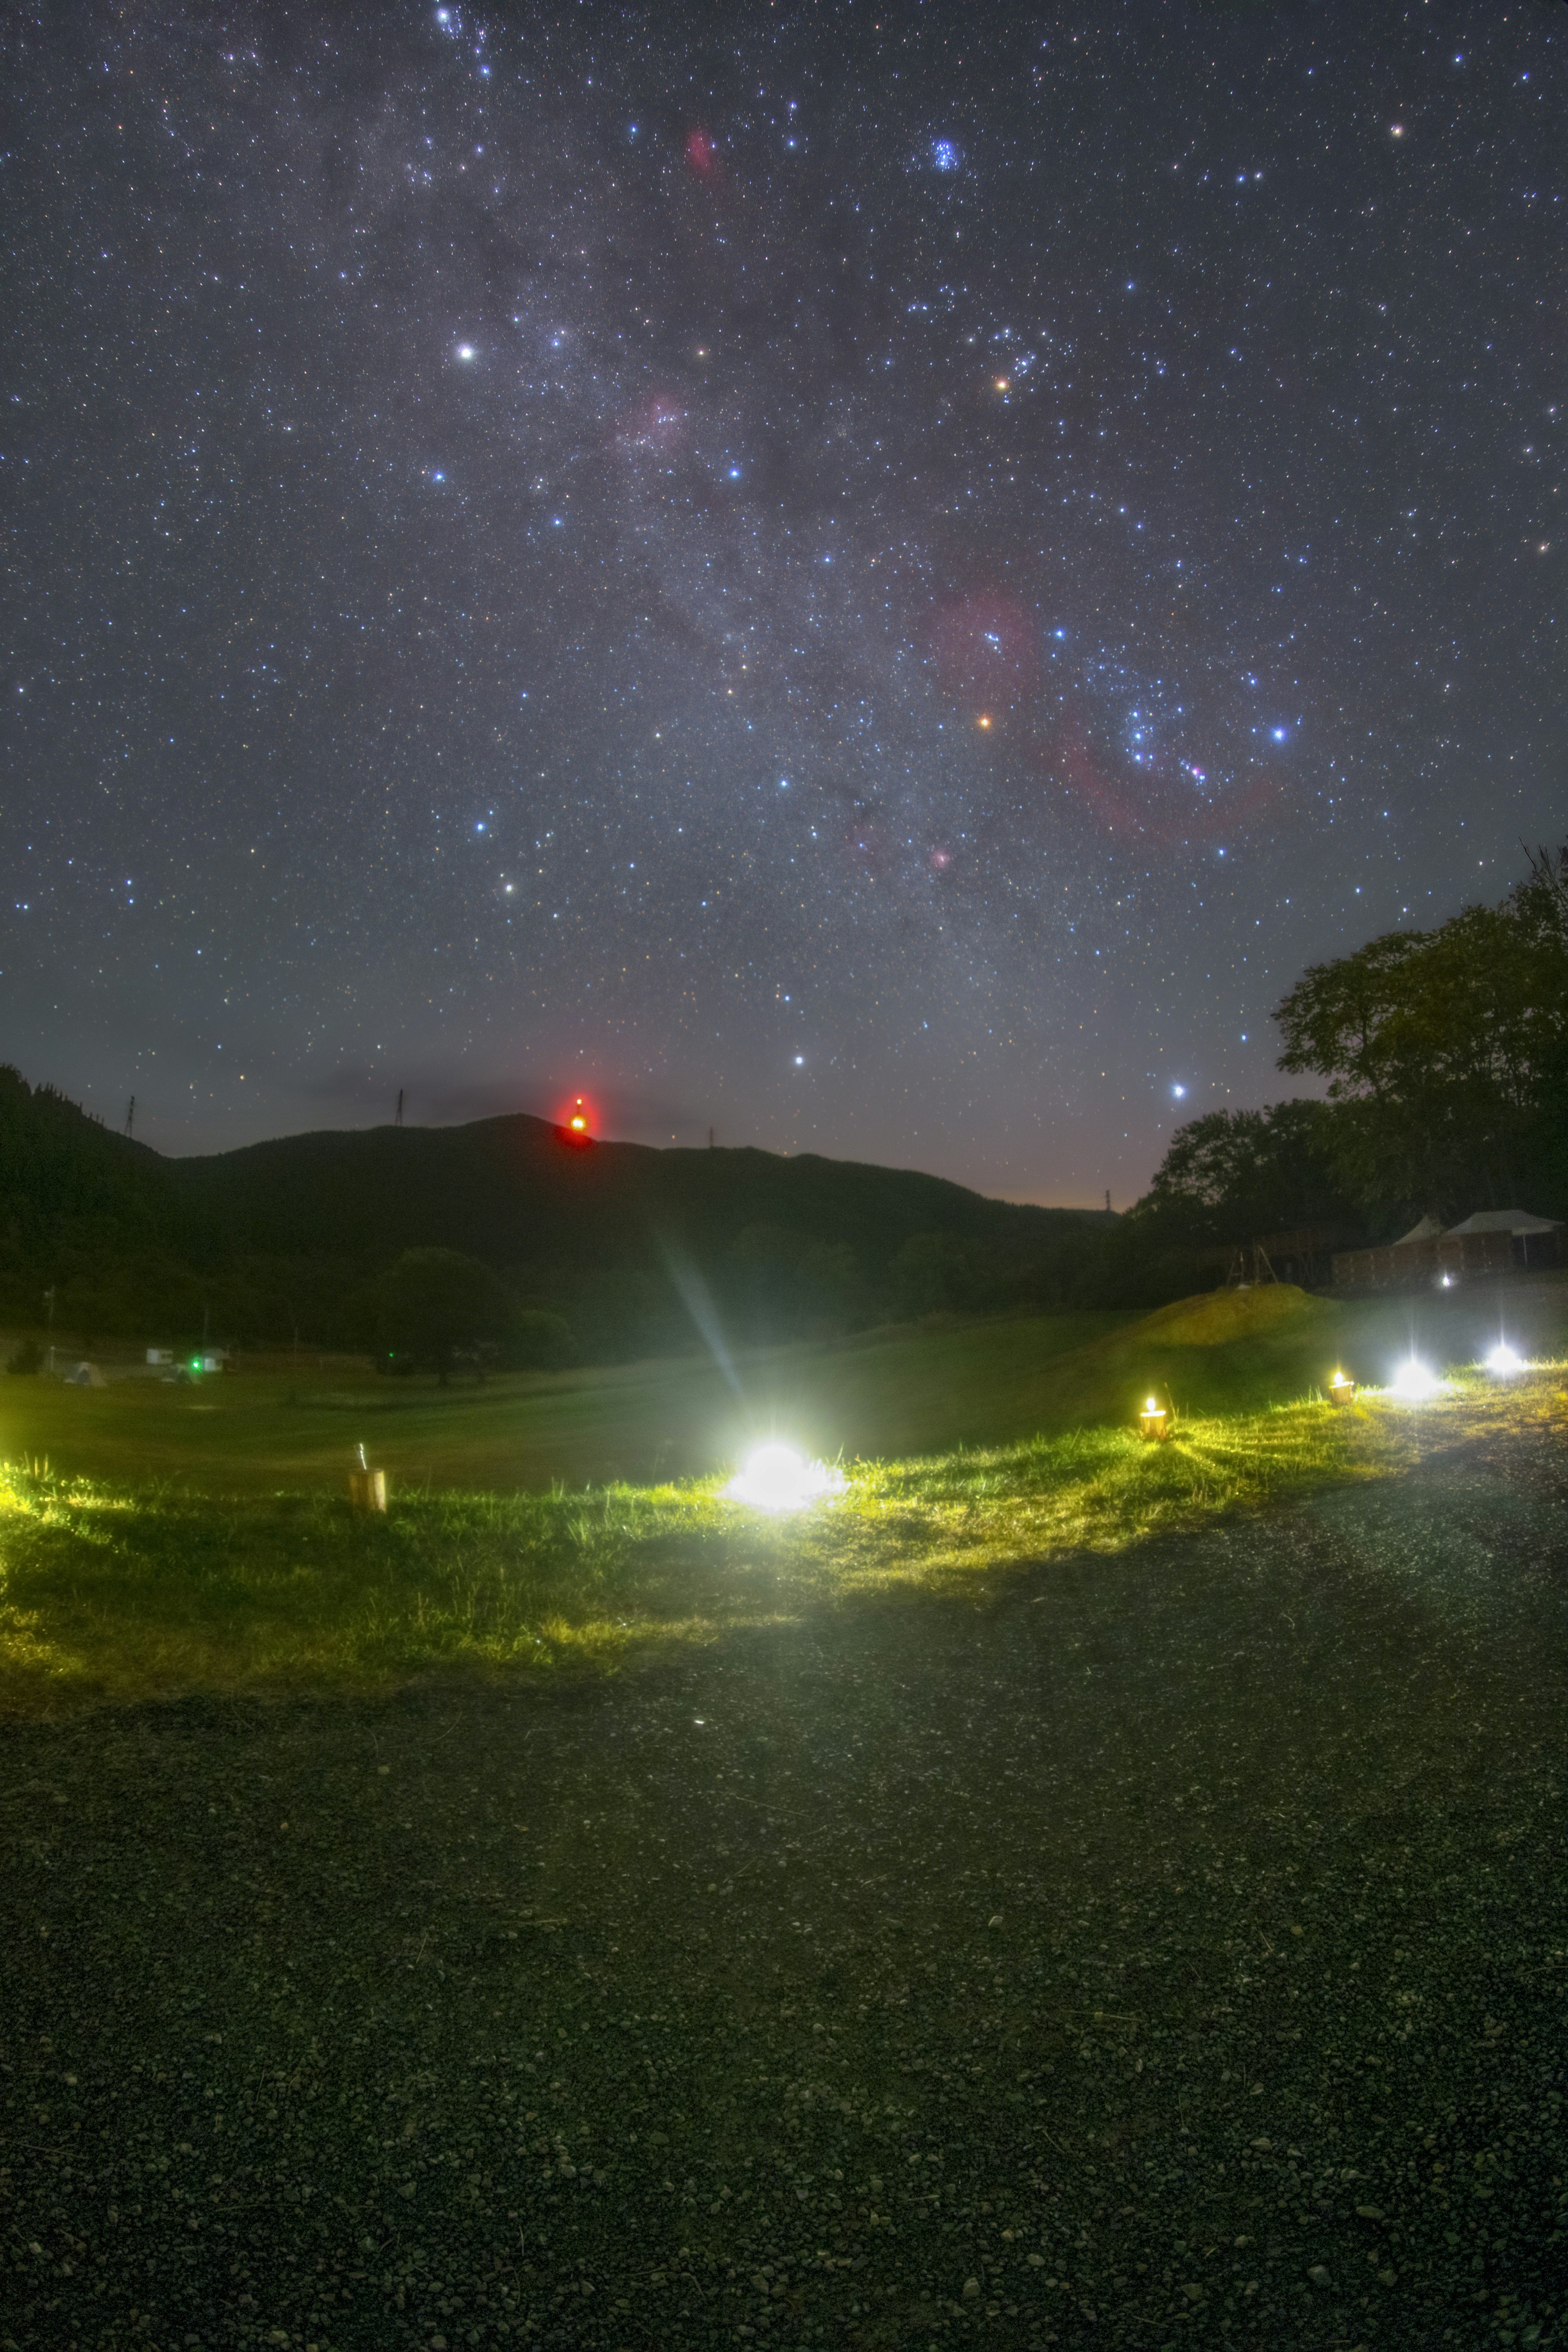
M 324 1496 L 214 1501 L 9 1468 L 0 1703 L 367 1689 L 435 1668 L 607 1672 L 877 1595 L 987 1597 L 1063 1555 L 1126 1552 L 1540 1425 L 1568 1428 L 1561 1371 L 1507 1388 L 1467 1374 L 1420 1409 L 1300 1402 L 1190 1421 L 1164 1446 L 1103 1428 L 856 1463 L 839 1501 L 788 1519 L 724 1503 L 717 1479 L 411 1494 L 360 1519 Z

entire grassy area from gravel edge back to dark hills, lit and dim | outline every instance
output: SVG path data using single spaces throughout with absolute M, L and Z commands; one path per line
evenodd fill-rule
M 1559 1352 L 1566 1310 L 1559 1287 L 1514 1294 L 1516 1336 Z M 1448 1364 L 1495 1324 L 1474 1301 L 1420 1315 L 1415 1336 Z M 7 1383 L 0 1703 L 607 1668 L 825 1602 L 985 1592 L 1016 1564 L 1126 1550 L 1396 1472 L 1422 1446 L 1563 1418 L 1549 1371 L 1507 1390 L 1460 1376 L 1415 1411 L 1319 1402 L 1333 1362 L 1380 1378 L 1410 1336 L 1403 1305 L 1265 1289 L 1143 1322 L 783 1350 L 741 1367 L 741 1399 L 710 1364 L 444 1395 L 369 1381 L 313 1395 L 263 1376 L 197 1392 Z M 1168 1446 L 1128 1428 L 1150 1388 L 1180 1411 Z M 722 1456 L 769 1430 L 842 1451 L 846 1494 L 785 1522 L 724 1503 Z M 386 1522 L 341 1501 L 367 1432 L 393 1470 Z M 52 1470 L 19 1468 L 45 1454 Z M 656 1482 L 670 1456 L 698 1475 Z M 527 1491 L 527 1477 L 555 1482 Z

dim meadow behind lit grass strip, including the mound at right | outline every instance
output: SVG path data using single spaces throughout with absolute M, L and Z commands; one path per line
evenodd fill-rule
M 1472 1362 L 1500 1322 L 1533 1355 L 1568 1348 L 1568 1284 L 1453 1303 L 1331 1305 L 1281 1284 L 1133 1315 L 1039 1315 L 877 1331 L 437 1390 L 355 1359 L 256 1369 L 195 1388 L 0 1378 L 0 1461 L 120 1486 L 174 1479 L 223 1496 L 343 1494 L 364 1444 L 395 1494 L 512 1494 L 708 1479 L 757 1437 L 827 1461 L 907 1461 L 1084 1428 L 1126 1428 L 1150 1388 L 1180 1414 L 1251 1414 L 1321 1390 L 1335 1364 L 1382 1383 L 1418 1343 Z

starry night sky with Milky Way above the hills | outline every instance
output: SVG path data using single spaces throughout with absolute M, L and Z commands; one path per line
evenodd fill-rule
M 2 38 L 0 1058 L 110 1124 L 1124 1207 L 1561 835 L 1568 9 Z

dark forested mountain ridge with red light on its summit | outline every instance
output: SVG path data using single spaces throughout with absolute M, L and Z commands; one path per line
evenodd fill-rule
M 0 1308 L 45 1284 L 80 1329 L 353 1336 L 404 1249 L 456 1249 L 595 1355 L 677 1345 L 717 1303 L 738 1336 L 940 1305 L 1051 1303 L 1103 1211 L 985 1200 L 816 1152 L 578 1148 L 527 1115 L 374 1127 L 167 1160 L 0 1073 Z M 200 1296 L 200 1305 L 197 1305 Z

